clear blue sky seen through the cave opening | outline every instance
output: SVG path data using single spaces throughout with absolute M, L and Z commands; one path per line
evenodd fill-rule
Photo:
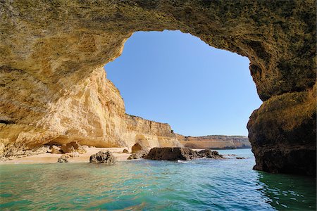
M 185 136 L 247 135 L 249 116 L 261 106 L 248 58 L 180 31 L 135 32 L 105 69 L 126 113 Z

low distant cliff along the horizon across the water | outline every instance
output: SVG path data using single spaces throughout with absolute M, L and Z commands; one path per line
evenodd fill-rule
M 182 136 L 177 134 L 178 141 L 188 148 L 251 148 L 247 136 Z

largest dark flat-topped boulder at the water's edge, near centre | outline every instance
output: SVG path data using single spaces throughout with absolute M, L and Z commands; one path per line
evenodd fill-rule
M 192 160 L 201 157 L 191 148 L 155 147 L 151 148 L 146 158 L 150 160 Z

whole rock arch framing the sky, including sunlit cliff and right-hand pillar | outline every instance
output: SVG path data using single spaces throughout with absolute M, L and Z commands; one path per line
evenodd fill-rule
M 256 169 L 316 174 L 316 5 L 307 1 L 0 1 L 1 154 L 76 139 L 132 146 L 167 124 L 125 115 L 104 75 L 132 32 L 181 30 L 250 60 Z

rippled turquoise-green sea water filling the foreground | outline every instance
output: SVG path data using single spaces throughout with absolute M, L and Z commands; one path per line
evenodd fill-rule
M 0 165 L 0 210 L 316 210 L 316 179 L 225 160 Z

